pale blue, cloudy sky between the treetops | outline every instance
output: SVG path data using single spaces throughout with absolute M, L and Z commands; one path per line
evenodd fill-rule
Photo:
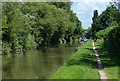
M 98 14 L 101 14 L 109 5 L 109 2 L 110 0 L 74 0 L 71 10 L 76 13 L 76 16 L 82 22 L 82 27 L 87 29 L 91 27 L 94 10 L 98 10 Z

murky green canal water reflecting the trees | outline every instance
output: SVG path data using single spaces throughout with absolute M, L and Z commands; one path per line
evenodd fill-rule
M 47 47 L 25 54 L 2 56 L 3 79 L 48 79 L 75 52 L 76 47 Z

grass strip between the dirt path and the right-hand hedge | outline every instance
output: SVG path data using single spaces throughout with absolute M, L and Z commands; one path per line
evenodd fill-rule
M 104 70 L 108 79 L 119 79 L 118 77 L 118 56 L 111 54 L 103 45 L 103 40 L 95 42 L 96 50 L 100 54 Z M 112 49 L 111 49 L 112 50 Z

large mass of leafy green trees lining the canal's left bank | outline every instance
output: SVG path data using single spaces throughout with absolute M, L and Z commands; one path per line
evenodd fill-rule
M 67 2 L 2 3 L 3 51 L 20 53 L 81 33 L 81 22 Z

